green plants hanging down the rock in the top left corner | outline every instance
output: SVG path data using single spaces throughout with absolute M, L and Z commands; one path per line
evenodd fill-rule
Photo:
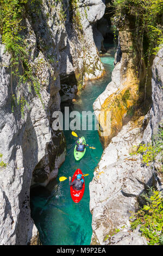
M 26 29 L 23 26 L 23 17 L 28 2 L 29 0 L 0 0 L 0 33 L 5 50 L 11 55 L 12 110 L 15 103 L 20 103 L 22 117 L 27 104 L 24 96 L 25 85 L 28 84 L 29 88 L 33 87 L 41 100 L 40 84 L 35 76 L 35 68 L 30 63 L 28 44 L 23 36 Z M 13 92 L 13 81 L 17 83 L 18 99 Z

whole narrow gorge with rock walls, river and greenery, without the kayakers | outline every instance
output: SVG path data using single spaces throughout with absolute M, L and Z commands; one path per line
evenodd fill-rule
M 162 219 L 163 2 L 149 2 L 0 1 L 1 245 L 152 244 L 130 221 L 151 190 Z M 79 162 L 53 129 L 65 107 L 98 121 L 75 130 L 96 148 Z M 79 204 L 59 181 L 77 168 Z

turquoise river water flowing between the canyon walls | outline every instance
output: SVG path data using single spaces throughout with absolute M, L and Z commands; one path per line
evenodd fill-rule
M 90 81 L 82 92 L 78 94 L 77 101 L 71 106 L 71 111 L 80 112 L 82 123 L 82 111 L 93 112 L 92 104 L 111 81 L 111 72 L 114 68 L 114 52 L 101 57 L 106 70 L 104 77 L 96 81 Z M 90 193 L 89 183 L 93 178 L 93 172 L 101 159 L 103 148 L 99 141 L 97 130 L 75 131 L 77 135 L 84 136 L 86 143 L 96 149 L 86 149 L 82 160 L 74 159 L 73 150 L 76 137 L 71 131 L 64 131 L 66 137 L 66 160 L 59 169 L 58 178 L 52 181 L 46 188 L 37 187 L 30 194 L 31 215 L 40 233 L 42 245 L 90 245 L 92 236 L 92 216 L 89 209 Z M 85 191 L 82 200 L 76 204 L 73 202 L 68 185 L 68 176 L 80 168 L 85 176 Z M 59 177 L 66 176 L 65 181 L 60 182 Z

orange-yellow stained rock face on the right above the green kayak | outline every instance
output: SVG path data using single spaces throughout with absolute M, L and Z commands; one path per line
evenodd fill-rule
M 112 81 L 93 103 L 93 109 L 100 123 L 99 136 L 106 147 L 134 114 L 139 99 L 140 80 L 145 76 L 145 63 L 141 63 L 141 77 L 137 76 L 141 45 L 135 46 L 130 21 L 117 20 L 119 32 Z M 109 125 L 106 119 L 110 118 Z M 110 126 L 110 127 L 109 127 Z

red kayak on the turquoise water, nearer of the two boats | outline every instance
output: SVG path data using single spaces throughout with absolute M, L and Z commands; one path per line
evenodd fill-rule
M 78 174 L 82 174 L 83 175 L 82 170 L 77 169 L 74 172 L 73 177 L 72 177 L 72 181 L 77 177 Z M 82 176 L 82 178 L 84 180 L 83 176 Z M 84 194 L 84 188 L 85 188 L 85 184 L 83 184 L 82 190 L 74 190 L 73 187 L 70 186 L 70 193 L 71 193 L 71 197 L 72 197 L 73 202 L 75 202 L 75 203 L 79 203 L 80 202 L 80 200 L 82 199 L 83 194 Z

